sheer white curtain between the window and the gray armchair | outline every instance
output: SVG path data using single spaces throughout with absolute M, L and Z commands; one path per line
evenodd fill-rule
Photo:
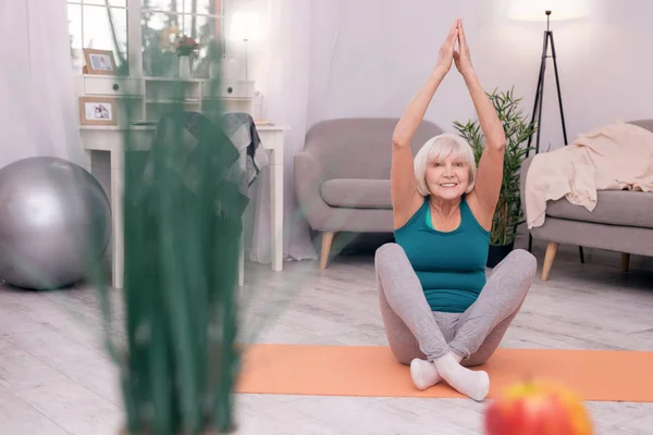
M 263 25 L 263 37 L 252 44 L 249 69 L 256 88 L 263 94 L 266 117 L 276 125 L 287 126 L 284 147 L 284 258 L 286 260 L 317 259 L 310 240 L 309 227 L 295 200 L 293 185 L 294 156 L 304 147 L 311 112 L 319 112 L 316 96 L 323 96 L 323 86 L 311 90 L 311 77 L 323 73 L 324 62 L 315 63 L 311 50 L 316 10 L 333 9 L 336 1 L 259 0 L 250 7 L 258 9 Z M 334 22 L 320 27 L 332 26 Z M 326 52 L 328 55 L 328 52 Z M 319 100 L 319 97 L 318 97 Z M 270 195 L 268 171 L 254 186 L 254 222 L 249 259 L 270 263 Z

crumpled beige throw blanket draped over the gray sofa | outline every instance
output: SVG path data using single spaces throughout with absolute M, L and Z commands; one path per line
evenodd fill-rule
M 535 156 L 525 186 L 528 228 L 544 223 L 549 200 L 565 197 L 592 211 L 596 191 L 608 189 L 653 191 L 653 133 L 616 122 Z

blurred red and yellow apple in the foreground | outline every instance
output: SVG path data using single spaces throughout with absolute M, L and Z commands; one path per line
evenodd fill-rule
M 580 397 L 552 382 L 507 388 L 485 409 L 485 435 L 592 435 Z

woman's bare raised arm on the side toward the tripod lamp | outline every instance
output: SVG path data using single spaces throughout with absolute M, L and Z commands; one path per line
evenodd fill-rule
M 463 75 L 476 112 L 485 137 L 485 149 L 479 161 L 479 169 L 473 191 L 470 194 L 472 202 L 478 204 L 482 224 L 490 226 L 492 216 L 496 209 L 501 185 L 503 182 L 503 164 L 506 145 L 506 136 L 503 124 L 494 110 L 494 105 L 483 90 L 479 78 L 471 65 L 469 47 L 463 29 L 463 23 L 458 27 L 458 48 L 454 52 L 456 69 Z M 486 224 L 486 225 L 485 225 Z

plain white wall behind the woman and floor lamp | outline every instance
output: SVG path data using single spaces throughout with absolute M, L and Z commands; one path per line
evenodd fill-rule
M 523 97 L 523 110 L 532 113 L 545 23 L 509 21 L 507 1 L 313 2 L 309 121 L 399 116 L 433 67 L 456 17 L 464 20 L 472 61 L 485 89 L 514 85 L 516 95 Z M 653 117 L 653 2 L 589 3 L 590 16 L 552 22 L 569 140 L 615 119 Z M 332 32 L 324 34 L 324 28 Z M 453 130 L 454 120 L 470 116 L 475 116 L 471 100 L 453 67 L 427 119 Z M 541 144 L 546 149 L 562 142 L 550 59 Z

